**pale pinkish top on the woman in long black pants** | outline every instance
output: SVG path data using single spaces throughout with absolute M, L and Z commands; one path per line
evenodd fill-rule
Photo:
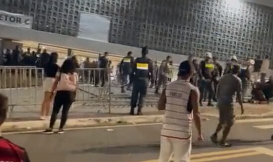
M 61 74 L 61 75 L 60 75 Z M 78 81 L 78 74 L 66 74 L 58 72 L 56 76 L 60 77 L 59 84 L 57 86 L 57 91 L 76 91 L 76 84 Z

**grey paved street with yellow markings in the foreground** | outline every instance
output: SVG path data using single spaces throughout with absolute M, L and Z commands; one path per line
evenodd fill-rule
M 223 149 L 208 140 L 216 120 L 204 121 L 206 140 L 195 143 L 192 162 L 272 162 L 272 124 L 272 119 L 238 120 L 229 136 L 233 147 Z M 160 128 L 144 124 L 4 136 L 25 147 L 32 162 L 157 162 Z

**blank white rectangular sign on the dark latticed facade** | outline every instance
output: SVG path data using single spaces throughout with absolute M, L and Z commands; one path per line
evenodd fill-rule
M 80 13 L 78 38 L 108 42 L 110 20 L 107 17 Z

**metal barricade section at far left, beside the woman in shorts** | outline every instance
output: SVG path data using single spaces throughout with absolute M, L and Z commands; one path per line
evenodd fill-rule
M 11 112 L 16 106 L 41 104 L 43 76 L 35 66 L 0 66 L 0 93 L 8 97 Z

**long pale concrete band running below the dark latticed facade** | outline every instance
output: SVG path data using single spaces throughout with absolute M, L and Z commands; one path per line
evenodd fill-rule
M 119 56 L 126 55 L 129 51 L 132 51 L 135 57 L 138 57 L 141 54 L 141 49 L 136 47 L 104 43 L 92 40 L 84 40 L 76 37 L 48 33 L 32 29 L 10 27 L 5 25 L 0 25 L 0 38 L 8 38 L 18 41 L 34 41 L 39 43 L 57 45 L 74 49 L 89 50 L 101 53 L 108 51 L 113 55 Z M 188 58 L 187 55 L 171 54 L 154 50 L 149 51 L 149 57 L 151 59 L 158 61 L 165 59 L 166 56 L 168 55 L 172 56 L 175 64 L 179 64 L 181 61 L 187 60 Z

